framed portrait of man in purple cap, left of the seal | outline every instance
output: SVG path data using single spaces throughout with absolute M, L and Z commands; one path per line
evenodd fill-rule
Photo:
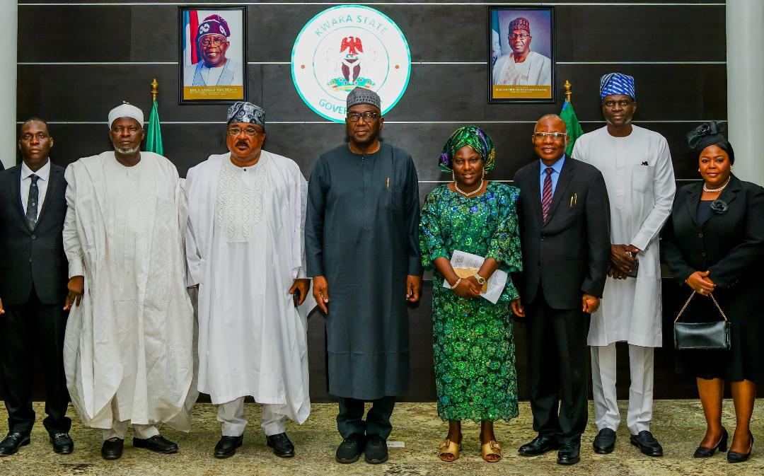
M 179 7 L 180 104 L 247 98 L 247 8 Z

